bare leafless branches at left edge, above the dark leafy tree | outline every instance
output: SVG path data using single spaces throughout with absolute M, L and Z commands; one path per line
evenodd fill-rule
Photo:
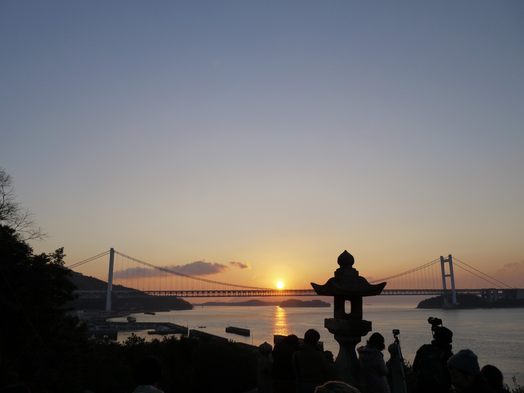
M 0 225 L 15 231 L 19 240 L 43 240 L 47 233 L 37 225 L 34 214 L 16 202 L 10 174 L 0 167 Z

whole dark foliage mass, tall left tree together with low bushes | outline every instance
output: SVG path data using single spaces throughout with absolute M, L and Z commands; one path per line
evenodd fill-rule
M 122 344 L 87 339 L 84 326 L 67 314 L 73 297 L 63 248 L 33 255 L 15 231 L 0 226 L 0 307 L 12 324 L 0 324 L 3 385 L 27 383 L 35 392 L 133 391 L 138 359 L 157 356 L 161 381 L 172 391 L 244 392 L 256 386 L 258 351 L 228 341 L 132 335 Z M 205 378 L 201 376 L 205 375 Z

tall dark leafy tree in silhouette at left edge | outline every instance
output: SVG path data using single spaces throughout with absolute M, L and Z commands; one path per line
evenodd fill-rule
M 87 338 L 66 305 L 74 299 L 63 248 L 34 255 L 13 228 L 0 225 L 0 384 L 31 391 L 80 391 L 79 354 Z

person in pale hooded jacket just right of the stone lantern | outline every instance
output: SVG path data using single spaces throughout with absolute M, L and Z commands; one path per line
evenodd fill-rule
M 369 393 L 390 393 L 387 375 L 388 368 L 384 362 L 384 336 L 373 333 L 365 346 L 357 348 L 358 362 L 362 370 L 363 385 L 361 389 Z

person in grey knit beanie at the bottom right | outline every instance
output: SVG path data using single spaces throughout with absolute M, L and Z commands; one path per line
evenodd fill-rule
M 482 377 L 478 357 L 472 350 L 460 350 L 447 361 L 453 386 L 460 393 L 495 393 Z

